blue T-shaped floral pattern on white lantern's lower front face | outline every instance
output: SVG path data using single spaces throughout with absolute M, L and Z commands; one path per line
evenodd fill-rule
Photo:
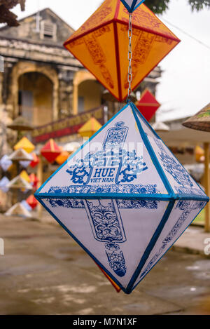
M 109 265 L 118 276 L 126 274 L 126 264 L 123 252 L 116 242 L 126 241 L 123 222 L 120 217 L 120 208 L 124 209 L 157 209 L 160 201 L 148 200 L 82 200 L 82 199 L 47 199 L 52 208 L 86 209 L 94 238 L 105 243 L 106 255 Z M 103 204 L 102 204 L 103 202 Z M 97 205 L 96 205 L 97 203 Z

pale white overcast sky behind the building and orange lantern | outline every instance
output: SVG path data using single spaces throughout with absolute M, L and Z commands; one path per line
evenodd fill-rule
M 158 121 L 195 114 L 210 102 L 210 11 L 204 9 L 192 13 L 187 2 L 171 0 L 167 13 L 159 17 L 206 43 L 209 48 L 165 22 L 181 43 L 160 62 L 164 73 L 157 93 L 162 104 Z M 27 0 L 24 13 L 19 6 L 13 12 L 23 18 L 38 8 L 49 7 L 71 27 L 78 29 L 101 3 L 102 0 Z

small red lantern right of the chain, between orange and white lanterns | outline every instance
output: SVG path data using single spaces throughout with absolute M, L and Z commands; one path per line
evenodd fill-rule
M 136 103 L 136 107 L 144 118 L 150 121 L 155 115 L 155 112 L 159 109 L 160 103 L 156 100 L 151 91 L 146 89 L 141 95 L 141 100 Z

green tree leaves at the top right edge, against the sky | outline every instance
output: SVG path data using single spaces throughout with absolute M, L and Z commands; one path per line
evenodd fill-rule
M 210 8 L 210 0 L 186 0 L 192 10 L 201 11 L 204 8 Z M 146 0 L 144 4 L 153 11 L 153 13 L 162 14 L 169 8 L 170 0 Z

